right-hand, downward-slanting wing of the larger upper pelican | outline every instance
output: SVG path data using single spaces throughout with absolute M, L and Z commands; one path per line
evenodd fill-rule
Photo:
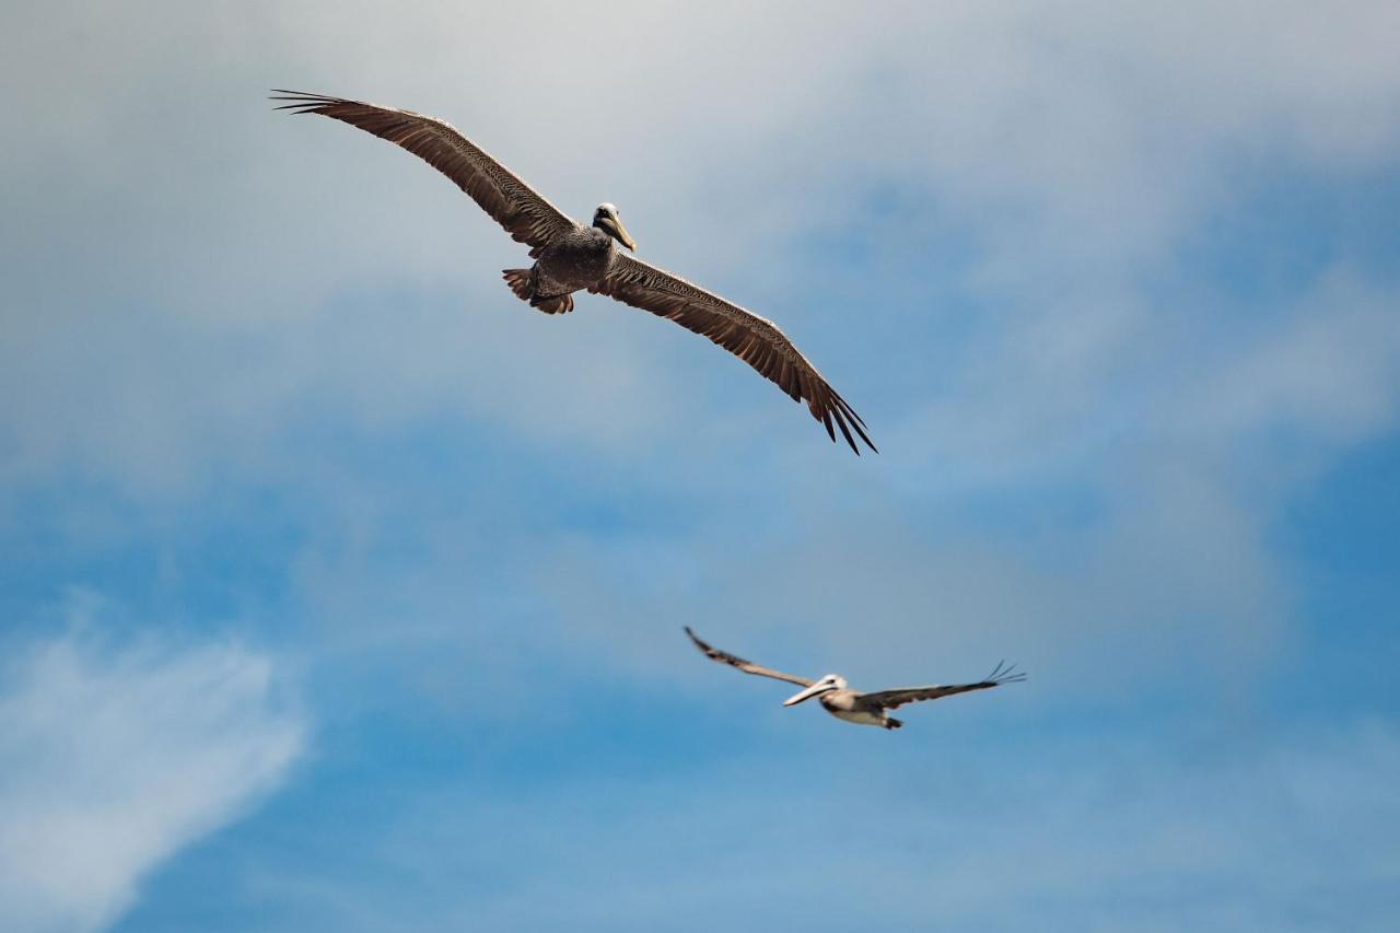
M 857 454 L 861 451 L 851 437 L 853 430 L 867 447 L 875 450 L 875 444 L 865 434 L 865 422 L 861 416 L 767 318 L 760 318 L 700 286 L 626 255 L 619 255 L 603 280 L 589 290 L 651 311 L 687 331 L 710 338 L 764 378 L 776 382 L 792 401 L 805 401 L 812 417 L 826 426 L 832 440 L 836 440 L 834 422 L 846 443 Z

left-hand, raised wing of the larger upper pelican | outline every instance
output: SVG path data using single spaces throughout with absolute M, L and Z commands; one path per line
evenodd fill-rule
M 570 217 L 514 172 L 487 156 L 447 120 L 395 106 L 379 106 L 325 94 L 276 91 L 277 109 L 319 113 L 357 126 L 400 146 L 438 170 L 472 196 L 517 241 L 532 247 L 531 255 L 575 224 Z

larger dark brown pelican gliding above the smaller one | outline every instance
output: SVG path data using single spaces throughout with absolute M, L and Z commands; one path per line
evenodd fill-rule
M 274 101 L 288 101 L 277 108 L 280 111 L 319 113 L 374 133 L 456 182 L 511 237 L 531 247 L 533 266 L 504 270 L 511 291 L 529 301 L 531 307 L 545 314 L 573 311 L 574 293 L 587 289 L 669 318 L 738 356 L 792 401 L 805 401 L 812 417 L 826 426 L 833 441 L 834 422 L 857 455 L 861 451 L 851 437 L 853 430 L 875 450 L 865 434 L 865 422 L 776 324 L 679 276 L 620 254 L 616 244 L 630 251 L 636 251 L 637 244 L 613 205 L 599 205 L 592 224 L 585 227 L 445 120 L 325 94 L 283 90 L 273 94 Z

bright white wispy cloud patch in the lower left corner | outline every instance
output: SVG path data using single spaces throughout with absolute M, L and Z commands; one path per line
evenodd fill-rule
M 0 926 L 95 930 L 151 869 L 280 785 L 304 724 L 228 643 L 7 642 Z

